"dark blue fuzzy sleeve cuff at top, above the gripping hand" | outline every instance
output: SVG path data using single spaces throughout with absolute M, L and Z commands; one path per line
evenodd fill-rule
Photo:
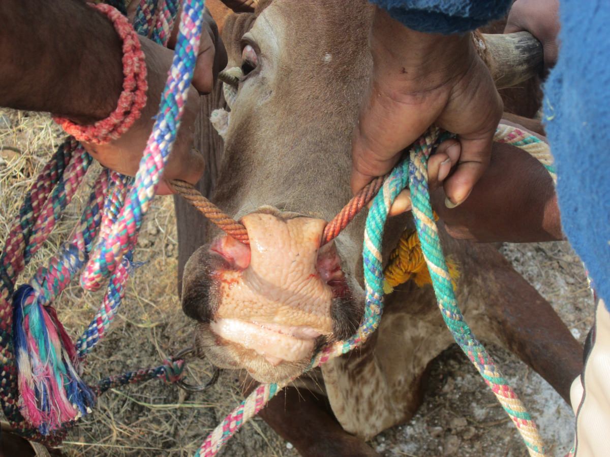
M 501 18 L 512 0 L 370 0 L 409 29 L 456 34 Z

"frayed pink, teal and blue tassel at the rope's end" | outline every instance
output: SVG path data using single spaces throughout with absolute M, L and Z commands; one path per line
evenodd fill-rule
M 89 413 L 95 395 L 77 372 L 76 350 L 55 310 L 30 285 L 15 292 L 13 306 L 21 414 L 47 435 Z

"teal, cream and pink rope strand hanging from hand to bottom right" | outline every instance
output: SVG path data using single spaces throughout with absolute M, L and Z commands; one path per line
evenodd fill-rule
M 511 417 L 528 447 L 529 454 L 542 456 L 544 455 L 544 445 L 536 424 L 493 363 L 492 357 L 487 353 L 483 344 L 476 339 L 464 321 L 464 315 L 459 309 L 454 294 L 428 191 L 428 158 L 438 136 L 439 129 L 431 127 L 426 135 L 422 136 L 412 147 L 409 161 L 412 213 L 415 218 L 417 235 L 422 243 L 423 255 L 432 278 L 432 287 L 451 335 L 492 389 L 504 411 Z

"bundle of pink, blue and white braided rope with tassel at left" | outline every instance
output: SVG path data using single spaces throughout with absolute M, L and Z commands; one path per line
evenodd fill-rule
M 118 4 L 124 6 L 122 1 Z M 162 17 L 157 18 L 156 30 L 153 30 L 158 40 L 167 41 L 167 27 L 168 24 L 170 27 L 173 24 L 176 5 L 175 1 L 163 2 L 159 10 L 162 12 Z M 118 13 L 107 5 L 98 5 L 97 8 L 112 15 L 113 19 L 118 18 Z M 187 14 L 186 19 L 182 21 L 185 24 L 184 29 L 190 31 L 191 35 L 193 31 L 195 32 L 193 40 L 197 44 L 200 28 L 198 18 L 202 9 L 203 2 L 201 8 L 190 9 L 190 14 L 195 20 L 190 20 Z M 124 7 L 121 10 L 124 11 Z M 188 8 L 185 10 L 188 13 Z M 118 22 L 124 24 L 124 19 Z M 116 23 L 117 20 L 115 25 Z M 127 35 L 122 36 L 124 41 L 127 41 Z M 173 143 L 173 138 L 168 132 L 173 132 L 175 137 L 178 124 L 174 121 L 181 115 L 185 87 L 188 88 L 189 73 L 192 73 L 193 67 L 191 65 L 190 69 L 185 70 L 181 62 L 182 54 L 187 55 L 193 62 L 193 56 L 196 54 L 196 46 L 188 45 L 188 37 L 184 38 L 183 35 L 184 31 L 181 34 L 183 50 L 176 51 L 178 57 L 174 58 L 169 88 L 166 88 L 164 93 L 164 100 L 167 103 L 162 106 L 156 124 L 157 129 L 149 140 L 150 145 L 151 142 L 162 139 L 159 140 L 162 145 L 157 149 L 160 149 L 160 155 L 163 156 L 164 153 L 165 157 Z M 135 44 L 133 39 L 129 43 L 124 43 L 125 46 L 135 46 Z M 127 66 L 129 65 L 132 63 L 127 62 Z M 186 76 L 181 74 L 184 71 Z M 138 71 L 132 73 L 138 74 Z M 162 119 L 164 116 L 165 119 Z M 152 149 L 155 149 L 154 145 Z M 151 168 L 152 161 L 157 169 L 162 171 L 163 157 L 159 157 L 159 154 L 149 154 L 148 159 L 148 162 L 143 160 L 144 167 Z M 125 213 L 129 215 L 136 211 L 137 217 L 141 219 L 146 211 L 143 205 L 135 209 L 130 206 L 125 210 L 124 204 L 131 179 L 121 177 L 114 172 L 103 171 L 96 181 L 71 242 L 62 247 L 46 268 L 38 269 L 30 285 L 21 286 L 15 292 L 19 273 L 48 238 L 63 209 L 76 193 L 91 161 L 90 155 L 73 138 L 60 146 L 27 194 L 0 256 L 0 362 L 2 364 L 0 402 L 5 416 L 18 433 L 50 445 L 59 443 L 65 436 L 65 429 L 74 425 L 78 417 L 87 413 L 95 401 L 95 395 L 80 378 L 79 363 L 82 356 L 104 336 L 104 332 L 112 322 L 112 317 L 118 310 L 131 263 L 131 249 L 134 247 L 137 234 L 131 234 L 127 249 L 117 255 L 119 263 L 110 278 L 102 307 L 85 331 L 84 337 L 79 340 L 78 352 L 57 319 L 55 311 L 49 305 L 84 266 L 93 249 L 93 241 L 98 230 L 102 235 L 101 247 L 104 247 L 106 246 L 104 241 L 115 233 L 113 230 L 117 226 L 119 215 L 124 216 Z M 148 171 L 146 170 L 144 174 Z M 138 190 L 148 196 L 154 196 L 154 186 L 158 182 L 158 176 L 156 181 L 154 177 L 152 179 L 145 177 L 143 181 L 145 185 L 136 188 L 135 200 L 138 197 Z M 19 391 L 13 360 L 13 338 L 19 361 Z M 161 371 L 157 369 L 157 374 L 163 373 L 166 380 L 175 381 L 182 371 L 178 369 L 182 363 L 183 361 L 173 361 L 171 363 L 173 369 L 165 364 L 165 368 Z M 135 380 L 142 377 L 129 378 Z M 24 420 L 20 409 L 27 420 Z

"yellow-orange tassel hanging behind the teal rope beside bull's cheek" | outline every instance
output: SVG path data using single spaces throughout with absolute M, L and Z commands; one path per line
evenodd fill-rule
M 434 214 L 435 218 L 436 214 Z M 453 287 L 456 287 L 456 280 L 459 277 L 458 264 L 447 259 L 447 267 L 451 275 Z M 414 280 L 418 287 L 432 284 L 432 278 L 423 257 L 422 245 L 420 244 L 415 230 L 405 230 L 398 240 L 398 245 L 390 253 L 390 261 L 384 269 L 384 292 L 390 294 L 396 286 Z

